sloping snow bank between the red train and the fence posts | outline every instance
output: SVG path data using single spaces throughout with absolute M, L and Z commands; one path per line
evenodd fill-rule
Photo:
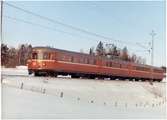
M 165 83 L 104 81 L 88 79 L 66 79 L 49 77 L 3 77 L 3 83 L 34 92 L 59 96 L 61 92 L 70 99 L 80 98 L 87 101 L 119 102 L 120 104 L 142 104 L 155 101 L 162 102 L 165 98 Z

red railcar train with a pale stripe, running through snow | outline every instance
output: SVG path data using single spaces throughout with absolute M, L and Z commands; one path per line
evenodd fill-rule
M 111 60 L 84 53 L 49 47 L 34 47 L 28 60 L 29 74 L 71 75 L 73 78 L 119 78 L 161 81 L 164 71 L 149 65 Z

